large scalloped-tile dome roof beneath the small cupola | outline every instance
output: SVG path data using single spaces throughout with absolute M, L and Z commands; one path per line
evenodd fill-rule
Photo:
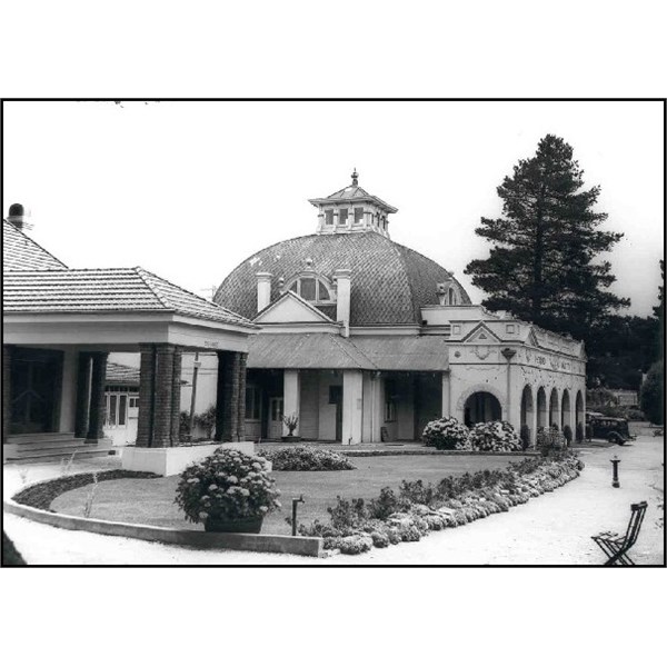
M 421 323 L 420 308 L 438 303 L 437 283 L 451 280 L 447 269 L 428 257 L 375 231 L 311 235 L 269 246 L 242 261 L 220 285 L 215 300 L 253 319 L 257 272 L 272 273 L 273 301 L 279 297 L 279 278 L 288 285 L 290 278 L 307 269 L 329 279 L 337 269 L 351 270 L 352 327 Z M 461 302 L 470 303 L 466 291 L 455 282 Z M 326 307 L 321 309 L 331 315 Z

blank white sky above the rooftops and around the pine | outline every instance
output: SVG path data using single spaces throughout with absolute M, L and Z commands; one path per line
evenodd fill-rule
M 201 296 L 271 243 L 315 232 L 308 199 L 359 185 L 398 208 L 391 239 L 464 275 L 496 193 L 547 133 L 599 185 L 605 257 L 630 315 L 664 257 L 659 102 L 4 102 L 3 215 L 72 268 L 141 266 Z M 603 257 L 600 257 L 603 259 Z

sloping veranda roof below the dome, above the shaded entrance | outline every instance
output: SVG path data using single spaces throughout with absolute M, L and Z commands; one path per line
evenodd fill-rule
M 265 332 L 248 348 L 248 368 L 442 371 L 448 359 L 444 336 Z

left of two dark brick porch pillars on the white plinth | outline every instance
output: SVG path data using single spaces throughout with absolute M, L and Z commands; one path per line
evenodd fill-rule
M 181 348 L 142 345 L 139 374 L 137 447 L 179 444 Z

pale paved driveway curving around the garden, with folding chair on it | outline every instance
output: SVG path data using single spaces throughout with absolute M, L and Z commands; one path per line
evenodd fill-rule
M 611 464 L 618 455 L 620 488 L 611 487 Z M 28 563 L 43 565 L 599 565 L 601 551 L 590 536 L 621 531 L 630 502 L 649 507 L 633 557 L 640 565 L 664 565 L 664 440 L 643 436 L 631 447 L 584 447 L 581 476 L 557 489 L 468 526 L 431 532 L 419 542 L 372 549 L 361 556 L 313 560 L 298 556 L 208 551 L 127 538 L 76 532 L 4 516 L 4 529 Z M 76 464 L 71 472 L 118 467 L 109 457 Z M 28 482 L 54 477 L 59 465 L 23 468 Z M 6 497 L 21 485 L 17 466 L 6 466 Z

